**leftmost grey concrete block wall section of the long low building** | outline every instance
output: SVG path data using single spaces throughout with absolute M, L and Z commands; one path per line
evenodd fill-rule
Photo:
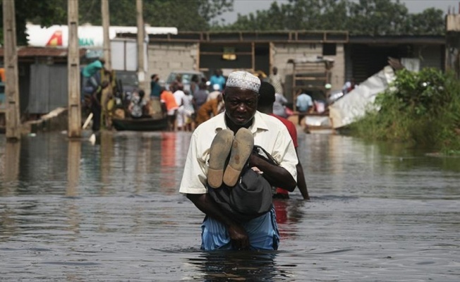
M 155 43 L 148 47 L 147 80 L 157 73 L 160 80 L 167 80 L 171 71 L 196 70 L 198 68 L 198 43 Z

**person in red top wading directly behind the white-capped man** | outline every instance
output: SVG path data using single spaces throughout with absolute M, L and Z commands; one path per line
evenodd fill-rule
M 259 90 L 259 101 L 258 101 L 258 111 L 264 114 L 269 114 L 270 116 L 274 116 L 278 118 L 284 125 L 286 125 L 287 130 L 289 131 L 289 135 L 291 135 L 292 142 L 294 147 L 296 148 L 297 159 L 298 159 L 298 142 L 297 142 L 297 128 L 291 121 L 288 121 L 286 118 L 282 118 L 281 116 L 277 116 L 273 114 L 273 103 L 274 103 L 274 87 L 269 82 L 262 81 Z M 308 195 L 307 190 L 307 183 L 305 183 L 305 174 L 303 174 L 303 167 L 301 161 L 298 161 L 296 166 L 297 168 L 297 187 L 298 190 L 301 191 L 302 197 L 304 200 L 310 200 L 310 196 Z M 282 188 L 277 188 L 277 193 L 273 196 L 282 199 L 289 199 L 289 192 Z

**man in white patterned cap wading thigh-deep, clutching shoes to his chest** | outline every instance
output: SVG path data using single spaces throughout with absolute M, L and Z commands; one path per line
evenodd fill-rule
M 202 123 L 190 139 L 179 192 L 206 214 L 202 250 L 277 250 L 279 232 L 274 208 L 250 221 L 236 221 L 208 194 L 209 189 L 234 187 L 248 165 L 275 187 L 296 188 L 296 150 L 284 124 L 256 111 L 260 80 L 246 71 L 229 75 L 223 93 L 225 111 Z M 279 164 L 251 154 L 264 148 Z M 248 149 L 249 148 L 249 149 Z M 228 164 L 226 159 L 229 157 Z

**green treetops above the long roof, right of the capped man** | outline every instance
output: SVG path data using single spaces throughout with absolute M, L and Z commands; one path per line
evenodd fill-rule
M 351 35 L 442 35 L 442 10 L 410 14 L 399 0 L 290 0 L 213 30 L 348 30 Z

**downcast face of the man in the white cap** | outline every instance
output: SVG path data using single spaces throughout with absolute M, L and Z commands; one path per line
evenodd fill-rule
M 236 125 L 245 125 L 257 110 L 258 94 L 246 89 L 228 87 L 224 92 L 226 116 Z

